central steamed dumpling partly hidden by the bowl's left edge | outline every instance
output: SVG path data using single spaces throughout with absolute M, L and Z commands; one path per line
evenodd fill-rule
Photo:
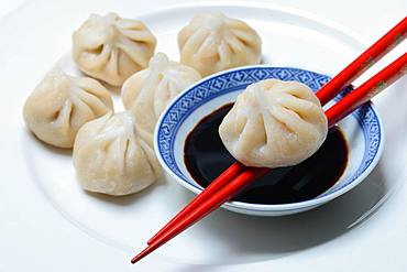
M 167 104 L 182 90 L 200 79 L 194 68 L 172 62 L 157 53 L 150 66 L 131 76 L 122 87 L 124 108 L 134 113 L 138 126 L 150 133 Z

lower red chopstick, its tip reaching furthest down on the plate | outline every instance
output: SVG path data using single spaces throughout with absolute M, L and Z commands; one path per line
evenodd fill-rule
M 405 69 L 406 67 L 407 53 L 405 53 L 386 68 L 381 70 L 377 75 L 370 78 L 360 88 L 354 89 L 351 93 L 352 96 L 350 96 L 351 94 L 348 95 L 350 96 L 350 98 L 345 99 L 348 97 L 345 96 L 345 98 L 341 99 L 329 110 L 327 110 L 326 113 L 328 117 L 329 126 L 333 126 L 338 120 L 352 112 L 353 109 L 358 108 L 364 101 L 367 101 L 373 96 L 382 91 L 385 87 L 396 81 L 396 79 L 403 75 L 403 69 Z M 178 217 L 179 219 L 175 225 L 170 226 L 170 228 L 167 228 L 166 231 L 162 231 L 161 236 L 156 236 L 156 239 L 154 239 L 146 249 L 134 257 L 131 262 L 135 263 L 136 261 L 141 260 L 142 258 L 194 225 L 196 221 L 210 214 L 212 210 L 219 208 L 222 204 L 224 204 L 235 194 L 241 192 L 246 185 L 249 185 L 256 178 L 265 175 L 270 171 L 271 168 L 264 167 L 246 167 L 244 172 L 238 175 L 238 177 L 228 182 L 215 194 L 206 196 L 206 202 L 202 202 L 199 205 L 195 204 L 196 207 L 190 210 L 190 213 L 185 214 L 184 217 Z M 201 194 L 204 194 L 204 192 Z

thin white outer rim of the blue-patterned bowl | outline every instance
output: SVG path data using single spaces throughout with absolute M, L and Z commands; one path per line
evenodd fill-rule
M 163 123 L 163 119 L 166 116 L 166 112 L 172 108 L 172 106 L 175 102 L 177 102 L 182 97 L 184 97 L 186 93 L 188 93 L 190 89 L 195 88 L 196 86 L 198 86 L 198 85 L 200 85 L 200 84 L 202 84 L 202 83 L 205 83 L 209 79 L 212 79 L 215 77 L 227 74 L 227 73 L 242 70 L 242 69 L 250 69 L 250 68 L 304 69 L 304 70 L 307 70 L 307 72 L 312 72 L 312 73 L 318 73 L 318 74 L 321 74 L 321 75 L 324 75 L 324 76 L 329 76 L 329 77 L 332 78 L 332 76 L 329 73 L 324 73 L 324 72 L 321 72 L 319 69 L 306 67 L 304 65 L 302 66 L 298 65 L 296 67 L 293 67 L 293 66 L 289 66 L 289 65 L 270 65 L 270 64 L 246 65 L 246 66 L 239 66 L 239 67 L 234 67 L 234 68 L 231 68 L 231 69 L 221 70 L 221 72 L 215 73 L 210 76 L 204 77 L 200 80 L 196 81 L 195 84 L 188 86 L 186 89 L 180 91 L 177 96 L 175 96 L 170 100 L 170 102 L 165 107 L 165 109 L 163 110 L 163 112 L 161 113 L 161 116 L 160 116 L 160 118 L 156 122 L 156 126 L 155 126 L 155 129 L 154 129 L 154 152 L 156 154 L 156 157 L 157 157 L 160 164 L 163 166 L 164 171 L 166 173 L 168 173 L 178 184 L 180 184 L 182 186 L 186 187 L 187 189 L 194 192 L 195 194 L 199 194 L 200 192 L 202 192 L 202 189 L 198 188 L 198 187 L 195 187 L 195 186 L 190 185 L 189 183 L 187 183 L 186 181 L 184 181 L 183 178 L 180 178 L 172 168 L 168 167 L 168 165 L 166 164 L 166 162 L 164 161 L 164 159 L 162 156 L 162 153 L 160 152 L 160 149 L 158 149 L 158 145 L 160 145 L 160 143 L 158 143 L 158 130 L 160 130 L 160 128 Z M 352 188 L 354 188 L 356 185 L 362 183 L 367 177 L 367 175 L 375 168 L 375 166 L 378 163 L 378 160 L 381 159 L 381 156 L 383 154 L 383 149 L 384 149 L 385 132 L 384 132 L 383 120 L 382 120 L 382 118 L 381 118 L 381 116 L 377 111 L 377 108 L 374 106 L 374 104 L 372 101 L 370 101 L 369 104 L 370 104 L 370 107 L 372 108 L 372 110 L 374 111 L 374 113 L 376 116 L 377 123 L 378 123 L 378 129 L 380 129 L 378 132 L 380 132 L 381 138 L 380 138 L 380 141 L 378 141 L 377 152 L 376 152 L 375 156 L 373 157 L 371 164 L 362 173 L 360 173 L 360 175 L 356 178 L 354 178 L 352 182 L 350 182 L 345 186 L 339 188 L 338 191 L 334 191 L 334 192 L 331 192 L 329 194 L 322 195 L 321 197 L 317 197 L 317 198 L 312 198 L 312 199 L 308 199 L 308 200 L 302 200 L 302 202 L 297 202 L 297 203 L 252 204 L 252 203 L 244 203 L 244 202 L 227 202 L 222 206 L 234 209 L 234 210 L 240 209 L 240 210 L 251 210 L 251 211 L 297 210 L 297 209 L 317 207 L 317 206 L 322 205 L 324 203 L 328 203 L 328 202 L 345 194 L 346 192 L 351 191 Z

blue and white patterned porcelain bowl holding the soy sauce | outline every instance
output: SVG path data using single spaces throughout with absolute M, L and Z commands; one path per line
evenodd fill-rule
M 266 78 L 298 80 L 314 91 L 330 79 L 329 76 L 306 69 L 266 65 L 239 67 L 204 78 L 179 94 L 157 122 L 154 145 L 164 170 L 180 185 L 199 194 L 202 187 L 193 179 L 184 163 L 184 144 L 188 133 L 204 117 L 234 101 L 248 85 Z M 334 100 L 339 100 L 344 93 L 346 90 Z M 257 216 L 296 214 L 318 207 L 360 184 L 377 164 L 382 154 L 384 131 L 381 118 L 374 106 L 366 104 L 339 124 L 349 144 L 349 162 L 341 178 L 326 193 L 309 200 L 290 204 L 229 202 L 222 207 Z

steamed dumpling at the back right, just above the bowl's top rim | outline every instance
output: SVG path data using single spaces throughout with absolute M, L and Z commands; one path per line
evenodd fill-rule
M 258 64 L 262 40 L 243 21 L 220 12 L 199 13 L 178 33 L 180 62 L 202 76 Z

